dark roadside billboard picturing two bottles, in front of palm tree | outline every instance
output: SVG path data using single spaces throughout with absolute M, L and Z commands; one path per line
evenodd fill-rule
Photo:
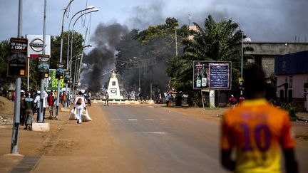
M 193 89 L 230 90 L 231 65 L 229 61 L 194 61 Z

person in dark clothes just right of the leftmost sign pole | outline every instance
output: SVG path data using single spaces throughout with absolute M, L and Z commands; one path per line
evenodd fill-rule
M 24 127 L 24 130 L 32 130 L 34 99 L 29 96 L 29 93 L 26 93 L 26 97 L 24 98 L 24 117 L 26 125 L 26 127 Z

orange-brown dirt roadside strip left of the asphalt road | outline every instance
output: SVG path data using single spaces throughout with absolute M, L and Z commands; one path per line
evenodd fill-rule
M 20 127 L 18 151 L 9 156 L 12 125 L 0 125 L 0 172 L 142 172 L 140 160 L 113 142 L 101 104 L 88 107 L 93 119 L 77 124 L 59 112 L 49 132 Z M 48 115 L 48 114 L 47 114 Z

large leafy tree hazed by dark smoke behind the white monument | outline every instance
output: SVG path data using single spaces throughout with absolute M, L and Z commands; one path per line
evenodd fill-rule
M 124 73 L 127 70 L 130 59 L 138 57 L 140 59 L 155 59 L 156 64 L 145 68 L 146 78 L 141 83 L 141 90 L 150 93 L 149 83 L 153 84 L 153 90 L 156 94 L 167 90 L 169 77 L 165 72 L 170 63 L 170 58 L 175 56 L 175 29 L 178 31 L 178 53 L 183 49 L 181 41 L 187 31 L 187 26 L 178 27 L 178 20 L 167 18 L 165 23 L 155 26 L 149 26 L 143 31 L 133 30 L 124 36 L 117 46 L 118 58 L 116 59 L 116 67 L 120 73 L 123 73 L 128 83 L 125 86 L 132 86 L 138 83 L 138 68 L 130 70 L 130 73 Z M 144 70 L 144 69 L 141 69 Z M 131 75 L 133 73 L 133 75 Z M 141 74 L 143 78 L 143 73 Z M 137 76 L 137 78 L 136 78 Z M 138 84 L 137 84 L 138 85 Z M 127 90 L 133 90 L 127 88 Z

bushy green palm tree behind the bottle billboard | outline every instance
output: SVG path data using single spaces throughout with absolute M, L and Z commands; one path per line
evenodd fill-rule
M 200 95 L 193 90 L 193 61 L 232 61 L 232 91 L 238 92 L 242 33 L 237 30 L 237 23 L 223 20 L 217 23 L 212 16 L 208 16 L 204 28 L 194 24 L 197 31 L 189 31 L 193 39 L 183 41 L 184 55 L 173 57 L 168 68 L 168 74 L 173 78 L 172 85 L 177 90 L 188 93 L 190 98 L 200 100 Z M 252 51 L 252 48 L 244 49 L 248 50 Z M 246 59 L 247 57 L 244 61 Z

